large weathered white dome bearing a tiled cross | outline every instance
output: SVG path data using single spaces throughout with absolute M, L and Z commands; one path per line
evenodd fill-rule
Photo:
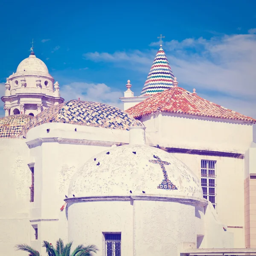
M 160 161 L 165 162 L 160 165 Z M 131 195 L 130 190 L 132 195 L 145 191 L 203 198 L 200 180 L 184 163 L 146 145 L 112 147 L 88 160 L 71 180 L 69 195 Z

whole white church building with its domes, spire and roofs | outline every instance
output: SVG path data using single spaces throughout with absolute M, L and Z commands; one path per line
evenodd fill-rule
M 256 120 L 177 80 L 160 46 L 121 110 L 64 102 L 33 51 L 21 61 L 1 97 L 0 252 L 62 238 L 99 256 L 256 255 Z

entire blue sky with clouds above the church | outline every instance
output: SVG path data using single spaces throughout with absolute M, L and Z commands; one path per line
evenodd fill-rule
M 59 82 L 61 96 L 121 108 L 128 79 L 140 94 L 163 34 L 180 87 L 256 118 L 253 0 L 3 0 L 1 7 L 1 95 L 34 38 L 35 55 Z

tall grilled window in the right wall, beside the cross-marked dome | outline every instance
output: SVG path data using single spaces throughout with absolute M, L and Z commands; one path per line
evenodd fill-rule
M 209 200 L 213 207 L 216 207 L 216 161 L 201 160 L 201 185 L 204 198 Z

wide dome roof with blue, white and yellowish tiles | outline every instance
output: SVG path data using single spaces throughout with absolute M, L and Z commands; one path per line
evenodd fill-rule
M 24 127 L 20 135 L 26 135 L 31 128 L 49 122 L 129 130 L 134 121 L 129 114 L 110 105 L 70 100 L 39 113 Z

